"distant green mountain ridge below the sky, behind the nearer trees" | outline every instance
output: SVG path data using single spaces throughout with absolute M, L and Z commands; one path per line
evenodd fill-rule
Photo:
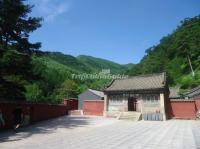
M 74 57 L 61 52 L 44 52 L 40 59 L 48 67 L 55 69 L 62 67 L 62 69 L 74 73 L 98 73 L 102 69 L 110 69 L 111 73 L 123 74 L 134 65 L 120 65 L 109 60 L 86 55 Z

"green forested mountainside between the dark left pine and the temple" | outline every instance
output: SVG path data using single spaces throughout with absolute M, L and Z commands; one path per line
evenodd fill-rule
M 98 74 L 110 69 L 111 74 L 124 74 L 133 64 L 120 65 L 91 56 L 65 55 L 60 52 L 33 54 L 34 73 L 41 79 L 26 85 L 26 97 L 31 101 L 59 102 L 64 97 L 76 97 L 87 88 L 104 89 L 110 79 L 74 79 L 72 75 Z

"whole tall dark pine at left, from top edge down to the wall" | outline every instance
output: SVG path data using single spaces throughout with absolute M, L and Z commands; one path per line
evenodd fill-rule
M 24 0 L 0 0 L 0 98 L 24 100 L 24 86 L 35 79 L 31 54 L 40 43 L 29 34 L 41 26 L 41 18 L 29 17 L 33 6 Z

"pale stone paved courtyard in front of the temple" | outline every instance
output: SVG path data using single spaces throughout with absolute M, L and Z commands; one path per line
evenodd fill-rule
M 0 132 L 0 149 L 200 149 L 200 121 L 60 117 Z

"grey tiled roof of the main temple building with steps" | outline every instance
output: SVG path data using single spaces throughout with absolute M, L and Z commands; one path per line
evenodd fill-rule
M 105 91 L 131 91 L 162 89 L 166 85 L 166 74 L 150 74 L 117 79 Z

